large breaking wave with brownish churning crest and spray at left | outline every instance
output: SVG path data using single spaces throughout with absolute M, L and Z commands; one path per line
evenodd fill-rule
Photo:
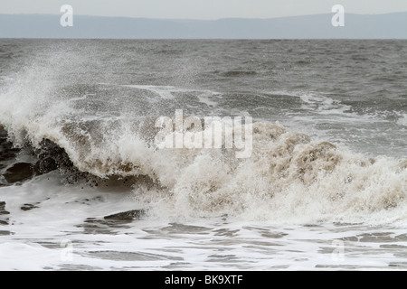
M 266 122 L 252 125 L 247 159 L 225 148 L 157 149 L 154 117 L 109 111 L 75 89 L 78 98 L 63 98 L 52 80 L 52 71 L 29 70 L 0 96 L 0 124 L 14 147 L 28 147 L 36 157 L 33 176 L 60 169 L 71 182 L 131 180 L 151 215 L 407 219 L 406 159 L 370 158 Z M 2 154 L 13 149 L 5 147 Z M 12 164 L 2 165 L 13 173 Z

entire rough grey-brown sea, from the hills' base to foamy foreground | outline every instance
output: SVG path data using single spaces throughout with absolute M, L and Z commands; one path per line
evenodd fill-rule
M 406 54 L 0 40 L 0 269 L 407 269 Z M 250 155 L 158 147 L 181 110 L 252 117 Z

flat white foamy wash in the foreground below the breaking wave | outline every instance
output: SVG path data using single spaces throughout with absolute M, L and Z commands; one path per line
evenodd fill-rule
M 270 225 L 218 217 L 104 218 L 135 210 L 130 191 L 63 187 L 56 172 L 0 188 L 9 225 L 2 270 L 403 269 L 405 222 Z M 34 204 L 22 210 L 24 202 Z M 366 262 L 369 260 L 369 262 Z

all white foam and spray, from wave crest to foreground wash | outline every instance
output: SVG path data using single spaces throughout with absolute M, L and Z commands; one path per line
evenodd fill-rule
M 250 116 L 259 108 L 251 107 L 257 99 L 239 107 L 244 91 L 191 89 L 190 83 L 83 84 L 82 76 L 63 73 L 72 62 L 80 65 L 73 54 L 51 51 L 49 59 L 40 57 L 3 78 L 0 124 L 15 146 L 41 154 L 22 151 L 2 172 L 42 155 L 67 156 L 71 163 L 64 165 L 71 167 L 0 187 L 1 269 L 407 266 L 405 156 L 368 157 L 324 138 L 327 131 L 336 133 L 336 124 L 404 127 L 405 115 L 389 120 L 356 113 L 353 105 L 320 92 L 251 91 L 264 102 L 280 94 L 278 117 L 288 118 L 283 122 L 314 126 L 314 132 L 329 126 L 310 136 L 260 115 L 247 159 L 225 148 L 157 149 L 152 140 L 158 116 L 151 111 L 170 108 L 173 114 L 173 107 L 185 105 L 193 113 Z M 257 72 L 229 74 L 232 83 L 260 78 Z M 227 106 L 229 96 L 240 100 Z M 293 107 L 285 107 L 291 100 Z M 67 182 L 66 173 L 73 172 L 84 177 Z M 107 218 L 120 213 L 131 218 Z M 62 256 L 66 244 L 72 245 L 71 259 Z M 337 244 L 344 256 L 333 256 Z

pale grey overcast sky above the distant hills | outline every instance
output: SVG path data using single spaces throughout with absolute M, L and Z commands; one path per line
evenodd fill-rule
M 0 0 L 0 14 L 60 14 L 64 4 L 74 14 L 175 19 L 326 14 L 337 4 L 345 13 L 407 12 L 407 0 Z

